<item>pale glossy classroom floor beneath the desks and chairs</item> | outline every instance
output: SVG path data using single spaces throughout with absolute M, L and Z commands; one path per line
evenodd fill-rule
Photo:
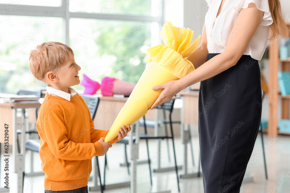
M 195 165 L 198 163 L 199 146 L 198 146 L 198 133 L 197 129 L 193 130 L 193 147 L 194 147 L 194 160 Z M 175 141 L 176 153 L 177 153 L 177 165 L 183 163 L 183 144 L 181 139 Z M 278 137 L 268 137 L 264 134 L 264 144 L 266 152 L 266 161 L 268 169 L 268 180 L 265 179 L 264 163 L 262 156 L 260 133 L 256 140 L 256 144 L 247 167 L 246 176 L 252 176 L 254 182 L 247 182 L 242 184 L 240 193 L 290 193 L 290 136 L 279 135 Z M 166 146 L 166 141 L 162 141 L 162 147 Z M 151 155 L 152 168 L 157 167 L 156 157 L 157 155 L 157 142 L 155 140 L 149 140 L 149 149 Z M 128 148 L 129 149 L 129 148 Z M 129 151 L 128 151 L 129 152 Z M 171 162 L 168 161 L 167 151 L 162 153 L 161 165 L 163 167 L 173 166 L 173 152 L 171 149 Z M 27 154 L 28 155 L 28 154 Z M 140 141 L 139 147 L 139 159 L 145 160 L 147 158 L 146 143 L 144 140 Z M 29 156 L 26 156 L 26 171 L 29 172 Z M 119 164 L 124 160 L 124 147 L 122 144 L 115 144 L 110 148 L 107 153 L 108 167 L 106 170 L 106 184 L 122 183 L 130 181 L 130 176 L 127 173 L 126 167 L 120 167 Z M 1 154 L 1 160 L 3 160 L 3 154 Z M 104 157 L 99 157 L 101 167 L 101 175 L 104 174 Z M 2 163 L 2 162 L 1 162 Z M 35 153 L 35 170 L 41 171 L 40 159 L 37 153 Z M 10 167 L 12 163 L 10 163 Z M 193 167 L 190 148 L 188 148 L 188 170 L 196 171 L 197 168 Z M 179 174 L 182 174 L 182 170 L 179 170 Z M 288 174 L 288 176 L 287 176 Z M 13 175 L 12 175 L 13 176 Z M 1 187 L 3 187 L 3 171 L 1 169 Z M 13 177 L 12 177 L 13 179 Z M 10 185 L 13 183 L 10 177 Z M 89 182 L 89 185 L 92 184 Z M 26 193 L 43 193 L 44 192 L 44 176 L 25 177 L 24 180 L 24 192 Z M 13 187 L 11 187 L 13 188 Z M 199 178 L 186 178 L 181 180 L 181 193 L 202 193 L 203 183 L 202 177 Z M 276 190 L 275 190 L 276 189 Z M 137 166 L 137 192 L 149 193 L 157 191 L 171 190 L 172 193 L 177 191 L 177 180 L 174 171 L 153 173 L 153 185 L 150 185 L 150 177 L 148 164 L 140 164 Z M 99 191 L 89 191 L 95 193 Z M 117 189 L 105 190 L 105 193 L 129 193 L 130 188 L 127 185 L 123 185 Z

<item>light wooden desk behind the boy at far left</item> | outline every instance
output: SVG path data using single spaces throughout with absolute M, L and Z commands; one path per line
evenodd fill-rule
M 4 156 L 7 156 L 8 159 L 11 161 L 14 161 L 14 165 L 12 166 L 12 171 L 17 173 L 17 179 L 9 180 L 9 190 L 10 192 L 15 192 L 15 190 L 11 190 L 11 188 L 16 187 L 17 193 L 23 192 L 23 172 L 25 171 L 25 141 L 26 141 L 26 130 L 28 128 L 28 117 L 26 117 L 25 109 L 26 108 L 39 108 L 40 103 L 0 103 L 0 132 L 1 132 L 1 138 L 0 143 L 3 143 L 4 140 L 4 125 L 9 125 L 9 145 L 12 145 L 12 156 L 10 157 L 9 154 L 6 154 Z M 18 123 L 17 120 L 17 109 L 21 109 L 21 122 Z M 21 127 L 21 148 L 20 153 L 18 154 L 18 150 L 16 148 L 17 144 L 17 125 L 20 125 Z M 11 146 L 8 147 L 8 152 L 11 152 Z M 11 163 L 11 162 L 10 162 Z M 9 167 L 9 171 L 11 171 L 11 165 Z M 11 173 L 11 172 L 10 172 Z M 16 181 L 16 182 L 15 182 Z M 16 183 L 16 184 L 15 184 Z M 6 188 L 0 188 L 0 192 L 7 192 Z

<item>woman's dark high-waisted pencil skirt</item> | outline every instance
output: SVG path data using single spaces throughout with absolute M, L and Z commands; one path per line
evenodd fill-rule
M 219 53 L 207 54 L 206 61 Z M 200 82 L 198 131 L 205 193 L 240 192 L 258 135 L 262 92 L 258 60 L 242 55 Z

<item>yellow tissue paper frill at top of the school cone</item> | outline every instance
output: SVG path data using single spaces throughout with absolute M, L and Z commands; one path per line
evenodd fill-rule
M 173 75 L 183 78 L 195 70 L 193 64 L 186 59 L 198 46 L 200 37 L 190 45 L 194 31 L 189 28 L 175 27 L 171 22 L 164 23 L 160 32 L 164 44 L 147 49 L 146 67 L 156 62 L 165 66 Z

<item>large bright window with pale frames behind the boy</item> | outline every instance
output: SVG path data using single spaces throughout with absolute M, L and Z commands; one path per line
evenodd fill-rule
M 80 80 L 86 74 L 97 81 L 112 76 L 137 83 L 146 49 L 161 43 L 160 5 L 158 0 L 1 1 L 0 93 L 46 86 L 32 76 L 28 58 L 48 41 L 73 49 Z

